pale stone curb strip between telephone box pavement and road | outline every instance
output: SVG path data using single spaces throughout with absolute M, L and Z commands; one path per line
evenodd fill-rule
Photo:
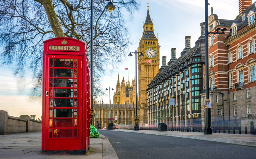
M 102 158 L 103 159 L 118 159 L 115 150 L 113 149 L 108 138 L 102 134 Z

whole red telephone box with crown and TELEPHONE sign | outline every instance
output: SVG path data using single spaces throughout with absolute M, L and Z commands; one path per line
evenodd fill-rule
M 77 39 L 44 41 L 42 150 L 86 154 L 90 147 L 90 73 L 87 47 Z

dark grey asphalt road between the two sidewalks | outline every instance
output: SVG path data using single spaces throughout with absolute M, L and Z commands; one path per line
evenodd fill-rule
M 249 159 L 256 148 L 130 132 L 98 130 L 112 144 L 119 159 Z

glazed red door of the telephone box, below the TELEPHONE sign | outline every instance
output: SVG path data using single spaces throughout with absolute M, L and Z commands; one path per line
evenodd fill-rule
M 46 55 L 45 151 L 81 149 L 81 56 Z

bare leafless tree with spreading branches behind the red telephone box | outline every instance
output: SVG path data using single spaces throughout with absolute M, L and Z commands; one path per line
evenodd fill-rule
M 106 11 L 106 1 L 93 3 L 94 97 L 101 96 L 106 61 L 116 67 L 130 44 L 122 9 L 138 10 L 136 0 L 116 0 L 116 10 Z M 90 0 L 0 0 L 1 66 L 14 64 L 16 73 L 33 70 L 35 87 L 41 88 L 43 41 L 71 37 L 87 44 L 90 54 Z M 40 92 L 41 93 L 41 92 Z

